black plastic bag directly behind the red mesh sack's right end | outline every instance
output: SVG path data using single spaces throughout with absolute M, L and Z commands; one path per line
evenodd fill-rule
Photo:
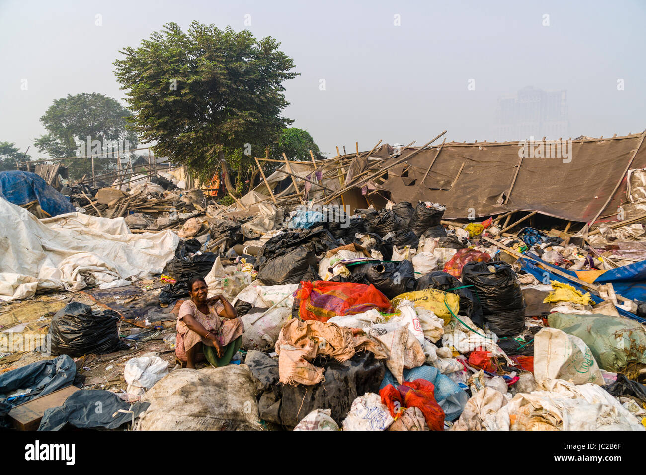
M 369 262 L 350 266 L 349 269 L 353 274 L 364 274 L 366 279 L 388 299 L 415 288 L 415 268 L 410 260 Z

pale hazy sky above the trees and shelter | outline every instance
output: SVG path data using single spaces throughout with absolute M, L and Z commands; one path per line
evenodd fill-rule
M 0 140 L 43 156 L 33 141 L 53 100 L 100 92 L 125 105 L 118 50 L 193 20 L 282 42 L 300 72 L 284 115 L 332 155 L 444 129 L 493 140 L 497 99 L 527 86 L 567 90 L 572 137 L 646 127 L 644 1 L 0 0 Z

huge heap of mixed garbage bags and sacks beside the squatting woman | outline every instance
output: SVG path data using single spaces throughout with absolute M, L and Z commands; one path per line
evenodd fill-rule
M 136 193 L 101 211 L 156 192 Z M 78 390 L 41 430 L 644 430 L 644 261 L 617 267 L 586 236 L 510 235 L 499 218 L 446 222 L 444 209 L 389 203 L 328 222 L 325 207 L 205 207 L 199 226 L 182 225 L 154 298 L 176 308 L 188 280 L 205 277 L 244 324 L 233 364 L 132 357 L 120 397 Z M 76 304 L 49 331 L 61 355 L 114 352 L 117 321 Z M 74 332 L 95 336 L 83 348 Z M 163 341 L 172 348 L 172 332 Z M 3 385 L 25 368 L 0 375 L 5 417 L 37 383 Z M 80 417 L 92 397 L 136 406 L 120 425 Z

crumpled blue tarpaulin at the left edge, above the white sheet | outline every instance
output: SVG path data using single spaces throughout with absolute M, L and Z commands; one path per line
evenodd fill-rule
M 28 171 L 0 172 L 0 196 L 18 206 L 37 201 L 50 216 L 76 211 L 67 196 L 58 193 L 36 173 Z

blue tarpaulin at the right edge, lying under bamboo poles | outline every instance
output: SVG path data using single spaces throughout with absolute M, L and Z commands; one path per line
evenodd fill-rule
M 576 282 L 573 282 L 572 280 L 567 280 L 565 279 L 565 277 L 556 275 L 555 273 L 548 271 L 548 269 L 549 268 L 558 269 L 559 271 L 565 272 L 574 278 L 577 278 L 576 272 L 568 271 L 566 269 L 561 269 L 556 266 L 552 266 L 552 264 L 548 264 L 547 262 L 541 259 L 538 259 L 534 255 L 532 255 L 531 257 L 532 259 L 539 260 L 541 264 L 545 266 L 545 269 L 539 268 L 539 266 L 537 266 L 534 262 L 526 259 L 519 259 L 519 264 L 521 264 L 521 269 L 523 269 L 527 273 L 532 274 L 534 277 L 536 277 L 536 279 L 539 280 L 539 282 L 547 283 L 547 279 L 557 280 L 558 282 L 565 282 L 566 284 L 571 285 L 572 287 L 582 291 L 583 293 L 587 292 L 587 290 L 583 288 L 583 286 L 580 286 L 579 284 L 577 284 Z M 635 266 L 636 264 L 640 264 L 640 266 L 638 266 L 638 268 L 632 269 L 632 271 L 625 270 L 625 268 Z M 621 272 L 617 272 L 617 271 L 620 271 L 621 269 L 624 269 L 624 270 Z M 640 269 L 640 272 L 638 272 L 637 269 Z M 612 275 L 609 275 L 610 273 L 612 273 Z M 614 280 L 607 280 L 606 278 L 607 275 L 608 277 L 610 277 L 610 279 L 614 279 Z M 634 279 L 634 280 L 630 281 L 629 279 Z M 618 269 L 612 269 L 611 271 L 606 271 L 602 275 L 600 275 L 597 280 L 594 281 L 595 284 L 605 284 L 606 282 L 612 282 L 612 287 L 614 288 L 614 290 L 619 295 L 626 297 L 627 299 L 643 300 L 643 297 L 646 297 L 645 295 L 646 261 L 636 262 L 635 264 L 630 264 L 629 266 L 623 266 Z M 627 292 L 624 293 L 623 291 L 620 291 L 620 289 L 627 290 Z M 597 297 L 596 295 L 590 295 L 590 297 L 595 303 L 603 302 L 603 299 Z M 630 313 L 629 311 L 623 310 L 623 308 L 617 307 L 617 311 L 623 317 L 628 317 L 629 319 L 636 320 L 641 323 L 646 323 L 646 319 L 638 317 L 637 315 L 635 315 L 634 313 Z

